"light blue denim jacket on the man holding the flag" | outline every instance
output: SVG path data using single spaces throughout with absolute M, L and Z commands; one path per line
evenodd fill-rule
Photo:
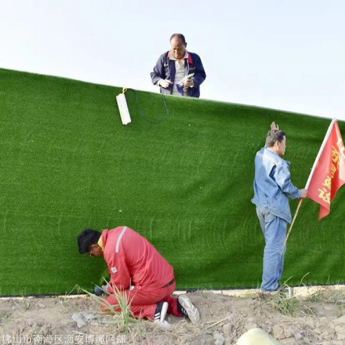
M 291 183 L 290 163 L 275 152 L 262 148 L 255 156 L 253 204 L 267 207 L 273 215 L 290 223 L 291 211 L 288 198 L 301 196 L 299 189 Z

